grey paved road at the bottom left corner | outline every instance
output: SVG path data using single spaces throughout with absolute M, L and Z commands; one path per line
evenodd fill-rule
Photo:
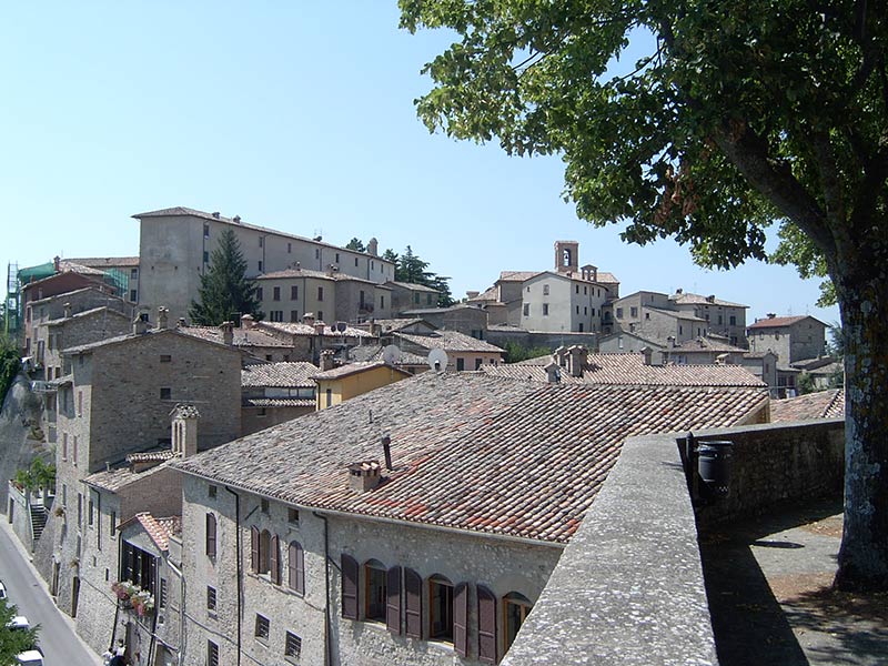
M 9 602 L 19 607 L 19 615 L 24 615 L 31 626 L 40 625 L 38 643 L 47 666 L 102 664 L 99 655 L 75 634 L 74 622 L 56 607 L 47 584 L 12 534 L 4 515 L 0 515 L 0 579 L 6 583 Z

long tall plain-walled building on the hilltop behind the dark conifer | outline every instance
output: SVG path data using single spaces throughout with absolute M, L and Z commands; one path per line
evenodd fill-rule
M 140 222 L 139 305 L 149 310 L 165 306 L 173 319 L 188 316 L 189 305 L 198 299 L 200 276 L 225 229 L 234 231 L 240 241 L 248 278 L 296 264 L 323 272 L 332 264 L 340 273 L 375 284 L 394 279 L 394 264 L 379 256 L 375 239 L 363 253 L 324 243 L 320 236 L 306 239 L 248 224 L 238 215 L 225 218 L 182 206 L 133 218 Z

